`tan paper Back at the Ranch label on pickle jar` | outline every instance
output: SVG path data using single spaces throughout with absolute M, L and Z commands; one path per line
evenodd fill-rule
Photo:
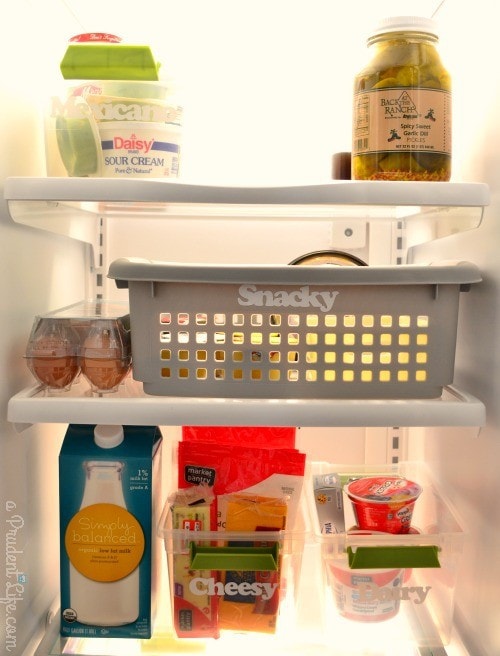
M 354 95 L 353 155 L 451 154 L 451 93 L 414 87 Z

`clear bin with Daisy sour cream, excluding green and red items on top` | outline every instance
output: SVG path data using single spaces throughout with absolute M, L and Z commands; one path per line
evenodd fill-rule
M 47 111 L 47 175 L 177 178 L 181 123 L 167 82 L 68 81 Z

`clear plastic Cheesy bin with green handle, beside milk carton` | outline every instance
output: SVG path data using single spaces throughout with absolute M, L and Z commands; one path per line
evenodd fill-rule
M 293 623 L 310 535 L 305 499 L 292 529 L 252 532 L 174 529 L 167 503 L 158 533 L 179 638 L 283 635 Z

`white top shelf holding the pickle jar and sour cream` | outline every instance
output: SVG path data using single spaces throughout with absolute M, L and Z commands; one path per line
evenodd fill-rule
M 191 218 L 251 221 L 394 221 L 411 248 L 477 228 L 489 204 L 484 183 L 331 181 L 279 187 L 220 187 L 177 180 L 8 178 L 14 221 L 96 247 L 97 221 Z

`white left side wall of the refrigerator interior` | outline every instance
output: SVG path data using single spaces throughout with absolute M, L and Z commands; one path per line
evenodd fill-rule
M 12 2 L 0 9 L 2 197 L 6 177 L 44 174 L 40 101 L 47 93 L 44 52 L 48 56 L 50 36 L 34 5 Z M 7 402 L 32 382 L 22 356 L 34 315 L 85 293 L 84 256 L 82 244 L 13 224 L 0 201 L 2 654 L 23 653 L 57 595 L 56 463 L 64 431 L 46 425 L 15 433 L 7 422 Z

